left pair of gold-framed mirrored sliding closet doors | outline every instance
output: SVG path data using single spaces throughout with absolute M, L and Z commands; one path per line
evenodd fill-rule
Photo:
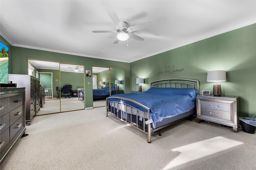
M 40 79 L 42 102 L 36 115 L 85 108 L 83 98 L 78 98 L 78 89 L 84 90 L 83 65 L 28 60 L 28 74 Z

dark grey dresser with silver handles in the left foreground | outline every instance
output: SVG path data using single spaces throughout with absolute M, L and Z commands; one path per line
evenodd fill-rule
M 25 88 L 0 88 L 0 159 L 25 133 Z

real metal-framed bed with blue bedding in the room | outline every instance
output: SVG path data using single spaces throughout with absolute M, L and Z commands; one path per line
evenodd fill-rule
M 106 98 L 106 116 L 114 116 L 151 135 L 196 114 L 199 82 L 166 79 L 150 83 L 145 92 L 115 94 Z

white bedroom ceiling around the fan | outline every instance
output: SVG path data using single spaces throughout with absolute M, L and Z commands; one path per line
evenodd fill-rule
M 0 34 L 11 45 L 133 62 L 256 23 L 256 0 L 1 0 Z M 108 16 L 133 26 L 144 38 L 113 44 Z

